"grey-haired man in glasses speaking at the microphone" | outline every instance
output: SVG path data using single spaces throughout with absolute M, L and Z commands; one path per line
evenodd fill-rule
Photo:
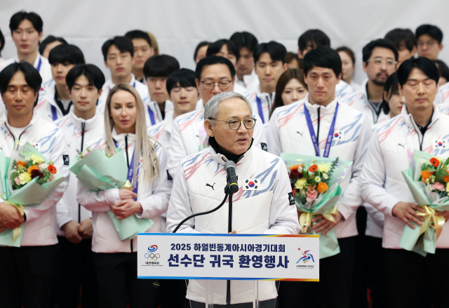
M 216 208 L 225 196 L 227 161 L 236 163 L 239 189 L 232 200 L 232 233 L 298 234 L 297 211 L 287 168 L 278 156 L 253 146 L 253 110 L 243 95 L 222 92 L 204 110 L 210 147 L 182 159 L 168 206 L 167 231 L 186 217 Z M 177 232 L 228 233 L 228 205 L 187 220 Z M 187 298 L 192 307 L 205 307 L 206 281 L 191 280 Z M 230 286 L 230 288 L 229 288 Z M 253 307 L 253 281 L 215 281 L 213 303 L 218 307 Z M 228 290 L 229 288 L 229 290 Z M 260 281 L 260 307 L 274 307 L 274 281 Z M 247 303 L 247 304 L 243 304 Z

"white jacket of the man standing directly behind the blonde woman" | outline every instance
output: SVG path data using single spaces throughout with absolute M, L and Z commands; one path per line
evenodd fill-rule
M 149 99 L 148 87 L 140 81 L 135 80 L 134 74 L 131 74 L 131 81 L 129 82 L 129 85 L 133 86 L 138 91 L 140 98 L 142 99 L 143 105 L 145 107 L 145 119 L 147 121 L 147 128 L 162 121 L 161 110 L 159 109 L 159 106 L 156 104 L 156 102 L 153 102 Z M 103 92 L 101 93 L 100 99 L 98 100 L 97 104 L 98 113 L 104 114 L 107 95 L 109 94 L 109 91 L 114 88 L 114 86 L 116 85 L 112 83 L 112 79 L 107 80 L 103 85 Z

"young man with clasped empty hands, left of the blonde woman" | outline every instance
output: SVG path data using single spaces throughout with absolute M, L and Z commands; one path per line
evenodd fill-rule
M 65 133 L 70 160 L 73 161 L 79 152 L 105 145 L 105 116 L 95 113 L 105 76 L 95 65 L 77 65 L 69 71 L 66 79 L 74 107 L 67 116 L 55 121 L 55 125 Z M 60 258 L 54 302 L 57 307 L 76 306 L 81 287 L 83 305 L 98 307 L 98 279 L 92 253 L 92 212 L 76 202 L 77 187 L 78 179 L 70 173 L 69 187 L 57 204 Z

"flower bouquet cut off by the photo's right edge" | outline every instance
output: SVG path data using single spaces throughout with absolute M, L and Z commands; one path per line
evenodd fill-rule
M 421 226 L 412 222 L 415 229 L 406 225 L 399 247 L 420 255 L 435 253 L 436 240 L 445 222 L 443 216 L 436 216 L 435 213 L 449 210 L 449 159 L 444 161 L 415 150 L 410 168 L 402 174 L 417 205 L 424 209 L 424 213 L 418 212 L 424 217 L 424 222 Z

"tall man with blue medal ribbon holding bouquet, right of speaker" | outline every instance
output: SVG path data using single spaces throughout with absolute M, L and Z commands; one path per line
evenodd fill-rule
M 340 81 L 342 70 L 337 51 L 329 47 L 313 49 L 305 55 L 303 67 L 309 93 L 299 102 L 274 110 L 267 126 L 269 152 L 275 155 L 284 152 L 334 159 L 338 157 L 352 161 L 353 165 L 347 168 L 340 184 L 342 196 L 337 202 L 337 223 L 325 219 L 317 222 L 322 218 L 320 216 L 312 220 L 312 229 L 316 232 L 326 234 L 335 227 L 340 253 L 320 260 L 319 286 L 282 282 L 280 296 L 286 307 L 297 307 L 307 296 L 319 297 L 321 304 L 326 307 L 349 307 L 357 235 L 355 213 L 363 203 L 359 175 L 371 128 L 365 115 L 335 99 L 335 86 Z M 313 296 L 307 295 L 309 293 Z

